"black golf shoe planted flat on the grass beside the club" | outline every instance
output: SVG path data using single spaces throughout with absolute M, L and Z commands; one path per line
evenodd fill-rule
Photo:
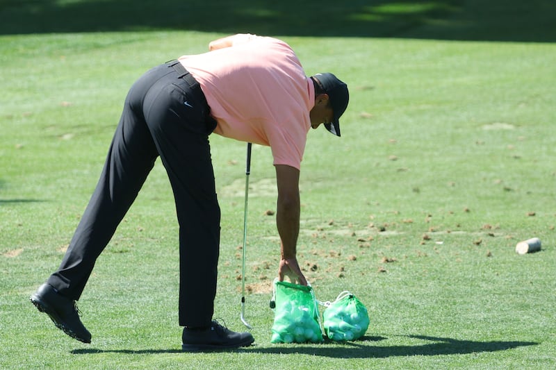
M 183 351 L 221 351 L 247 347 L 254 342 L 250 333 L 236 333 L 218 321 L 212 321 L 206 329 L 183 328 L 181 349 Z

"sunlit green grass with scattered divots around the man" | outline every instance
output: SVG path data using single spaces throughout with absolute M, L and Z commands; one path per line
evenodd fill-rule
M 275 183 L 261 146 L 253 150 L 247 246 L 256 346 L 179 351 L 177 222 L 160 162 L 79 302 L 92 344 L 39 314 L 28 296 L 60 263 L 127 89 L 147 68 L 202 52 L 221 35 L 0 37 L 0 368 L 555 367 L 550 42 L 284 37 L 307 74 L 329 70 L 350 86 L 343 136 L 309 135 L 298 250 L 318 298 L 349 289 L 367 305 L 362 340 L 270 344 L 279 242 L 265 215 L 275 210 Z M 215 317 L 241 330 L 245 144 L 214 135 L 211 146 L 222 208 Z M 516 242 L 533 236 L 543 251 L 517 255 Z

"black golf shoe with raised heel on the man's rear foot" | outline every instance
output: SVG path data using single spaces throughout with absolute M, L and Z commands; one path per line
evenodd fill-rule
M 70 337 L 83 343 L 91 342 L 91 333 L 81 323 L 75 301 L 58 294 L 51 285 L 41 285 L 31 295 L 31 303 L 49 315 L 54 325 Z

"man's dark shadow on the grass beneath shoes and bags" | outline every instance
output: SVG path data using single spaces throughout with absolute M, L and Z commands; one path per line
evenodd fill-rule
M 464 355 L 466 353 L 506 351 L 523 346 L 535 346 L 536 342 L 477 342 L 472 340 L 459 340 L 442 337 L 428 337 L 425 335 L 407 335 L 411 339 L 423 339 L 431 343 L 416 344 L 411 346 L 373 346 L 368 342 L 379 342 L 385 337 L 363 337 L 357 342 L 345 344 L 302 344 L 297 346 L 270 346 L 258 348 L 256 345 L 248 348 L 239 348 L 238 353 L 269 353 L 269 354 L 304 354 L 327 358 L 389 358 L 404 357 L 412 355 L 436 356 L 436 355 Z M 332 344 L 332 342 L 328 342 Z M 179 350 L 101 350 L 95 348 L 74 349 L 71 351 L 76 355 L 88 355 L 95 353 L 126 353 L 126 354 L 156 354 L 156 353 L 181 353 Z

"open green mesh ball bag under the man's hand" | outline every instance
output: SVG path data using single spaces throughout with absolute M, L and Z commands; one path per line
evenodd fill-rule
M 318 304 L 311 286 L 276 279 L 273 302 L 275 317 L 270 342 L 322 342 Z

